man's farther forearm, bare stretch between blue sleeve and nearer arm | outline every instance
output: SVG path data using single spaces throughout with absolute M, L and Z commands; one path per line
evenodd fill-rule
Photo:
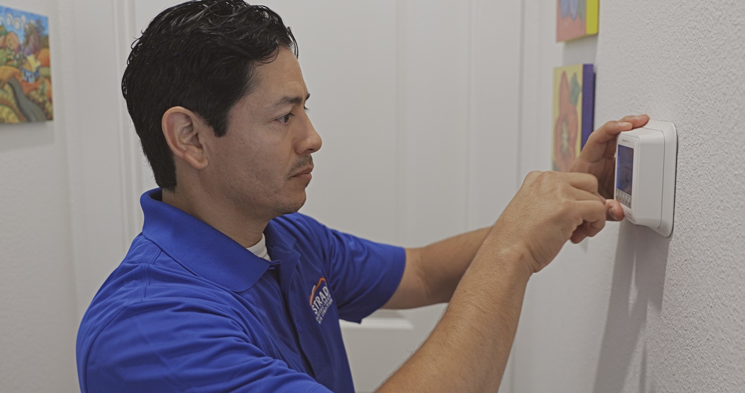
M 417 248 L 422 280 L 427 288 L 427 304 L 451 300 L 461 277 L 474 260 L 490 228 L 462 233 L 440 242 Z

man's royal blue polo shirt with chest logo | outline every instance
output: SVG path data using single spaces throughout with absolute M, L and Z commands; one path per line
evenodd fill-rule
M 267 261 L 160 199 L 80 323 L 80 390 L 353 393 L 339 319 L 388 301 L 403 248 L 294 213 L 264 230 Z

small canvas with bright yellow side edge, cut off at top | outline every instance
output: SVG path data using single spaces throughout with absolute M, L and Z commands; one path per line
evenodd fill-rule
M 557 43 L 597 34 L 599 0 L 557 0 Z

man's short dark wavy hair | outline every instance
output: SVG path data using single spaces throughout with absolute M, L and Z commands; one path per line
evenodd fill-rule
M 256 66 L 280 48 L 297 57 L 290 28 L 273 10 L 242 0 L 188 1 L 150 22 L 132 44 L 121 92 L 158 186 L 176 189 L 163 113 L 185 107 L 224 136 L 230 109 L 256 85 Z

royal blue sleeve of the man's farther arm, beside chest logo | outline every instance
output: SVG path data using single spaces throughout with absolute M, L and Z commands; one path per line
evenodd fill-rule
M 360 322 L 385 304 L 401 283 L 404 248 L 371 242 L 314 221 L 328 263 L 329 283 L 339 317 Z

